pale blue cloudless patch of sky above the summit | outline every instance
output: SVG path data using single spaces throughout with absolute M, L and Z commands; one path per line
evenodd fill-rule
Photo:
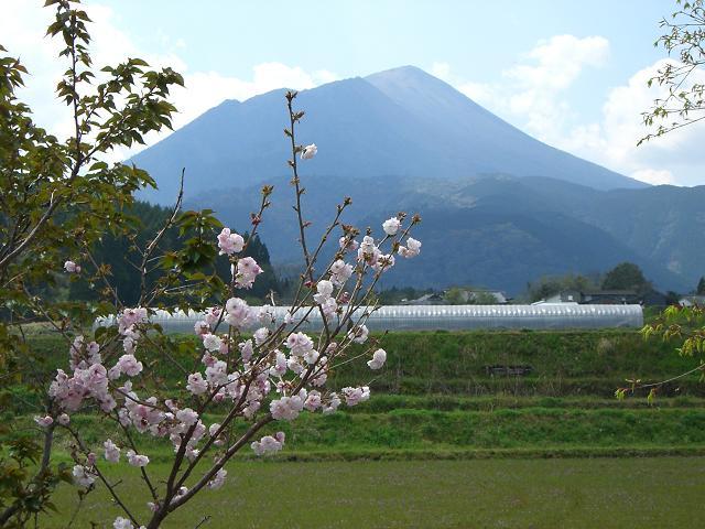
M 665 0 L 89 3 L 110 6 L 117 25 L 144 48 L 167 53 L 180 43 L 189 68 L 239 78 L 272 61 L 341 77 L 447 63 L 462 79 L 497 83 L 541 40 L 600 35 L 609 40 L 609 62 L 586 72 L 571 94 L 586 118 L 599 111 L 609 88 L 663 56 L 652 43 L 659 20 L 673 10 Z

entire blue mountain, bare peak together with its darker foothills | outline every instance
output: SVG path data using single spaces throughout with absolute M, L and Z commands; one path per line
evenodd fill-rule
M 186 168 L 187 207 L 209 207 L 247 230 L 262 183 L 274 184 L 260 226 L 272 262 L 299 262 L 286 166 L 284 89 L 227 100 L 132 161 L 173 202 Z M 449 85 L 402 67 L 303 90 L 301 144 L 310 240 L 335 204 L 343 222 L 377 233 L 399 210 L 420 212 L 423 251 L 398 260 L 384 287 L 474 283 L 518 293 L 543 274 L 637 262 L 661 289 L 687 291 L 704 274 L 705 187 L 647 186 L 549 147 Z

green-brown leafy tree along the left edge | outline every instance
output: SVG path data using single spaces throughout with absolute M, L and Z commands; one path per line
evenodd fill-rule
M 126 229 L 132 192 L 153 182 L 134 166 L 108 164 L 105 155 L 171 127 L 170 89 L 183 85 L 171 68 L 152 71 L 138 58 L 96 68 L 90 20 L 76 4 L 46 2 L 55 10 L 47 34 L 63 42 L 59 56 L 67 64 L 56 93 L 73 115 L 68 138 L 43 129 L 18 99 L 28 71 L 0 45 L 0 390 L 22 381 L 45 395 L 44 359 L 28 346 L 23 325 L 48 313 L 59 325 L 69 317 L 93 321 L 107 310 L 41 293 L 56 287 L 57 263 Z M 53 488 L 69 476 L 51 464 L 52 442 L 53 428 L 37 436 L 0 425 L 0 526 L 23 527 L 53 508 Z

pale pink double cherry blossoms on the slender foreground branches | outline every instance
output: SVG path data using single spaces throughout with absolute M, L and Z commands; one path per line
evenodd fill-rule
M 315 154 L 315 145 L 312 152 Z M 400 218 L 390 218 L 383 224 L 383 230 L 388 237 L 394 237 L 401 229 L 401 224 Z M 227 228 L 218 235 L 218 246 L 224 255 L 231 256 L 241 251 L 243 245 L 242 238 Z M 369 267 L 379 272 L 394 264 L 393 255 L 383 253 L 369 235 L 360 244 L 345 236 L 340 239 L 340 247 L 344 251 L 357 250 L 357 264 L 338 258 L 333 261 L 326 274 L 314 283 L 313 302 L 326 317 L 336 313 L 343 317 L 344 304 L 348 301 L 344 289 L 356 273 L 356 267 Z M 420 248 L 421 242 L 408 237 L 406 246 L 400 246 L 399 253 L 413 257 L 419 255 Z M 235 266 L 234 284 L 250 288 L 261 272 L 252 258 L 240 258 Z M 279 337 L 278 333 L 288 325 L 296 326 L 294 314 L 297 310 L 302 307 L 295 307 L 283 322 L 276 322 L 271 307 L 251 307 L 245 300 L 235 296 L 228 299 L 223 306 L 207 310 L 194 325 L 194 332 L 203 345 L 203 367 L 188 374 L 184 385 L 194 399 L 200 399 L 194 402 L 218 404 L 229 401 L 230 406 L 239 410 L 238 414 L 247 420 L 252 419 L 269 400 L 271 419 L 293 421 L 304 411 L 328 414 L 343 403 L 352 407 L 368 400 L 370 390 L 367 386 L 345 387 L 339 393 L 323 389 L 330 358 L 345 350 L 346 344 L 365 344 L 368 341 L 369 330 L 365 323 L 351 322 L 343 343 L 324 344 L 325 350 L 322 353 L 310 335 L 295 328 Z M 253 331 L 251 338 L 234 342 L 234 336 L 258 323 L 262 326 Z M 76 411 L 86 399 L 93 399 L 104 412 L 115 414 L 123 428 L 169 439 L 174 451 L 183 453 L 188 461 L 198 458 L 203 442 L 207 441 L 216 447 L 223 446 L 227 442 L 224 428 L 219 423 L 206 428 L 200 414 L 195 411 L 196 406 L 192 408 L 176 400 L 160 400 L 154 396 L 140 397 L 130 380 L 118 382 L 122 376 L 133 378 L 144 371 L 144 365 L 135 356 L 144 325 L 149 325 L 149 314 L 143 307 L 126 309 L 118 315 L 118 336 L 124 354 L 109 369 L 104 365 L 101 346 L 82 335 L 76 336 L 69 349 L 73 374 L 69 376 L 62 369 L 57 370 L 50 389 L 61 414 L 36 417 L 35 422 L 42 428 L 51 427 L 55 420 L 67 425 L 69 417 L 65 411 Z M 223 332 L 217 331 L 220 325 L 225 326 Z M 239 355 L 232 356 L 232 349 Z M 387 353 L 377 348 L 367 364 L 370 369 L 376 370 L 381 369 L 386 360 Z M 268 399 L 274 389 L 280 395 Z M 283 445 L 283 432 L 264 435 L 250 444 L 257 455 L 276 453 Z M 107 462 L 120 461 L 122 449 L 111 439 L 102 443 L 102 449 Z M 150 462 L 148 455 L 132 449 L 127 450 L 124 455 L 127 462 L 135 467 L 144 467 Z M 74 479 L 79 486 L 93 485 L 97 476 L 94 465 L 95 456 L 91 460 L 89 454 L 86 462 L 77 462 L 74 466 Z M 208 481 L 207 487 L 221 487 L 226 476 L 227 471 L 219 468 Z M 186 490 L 185 487 L 181 488 Z M 172 501 L 176 501 L 180 494 L 175 494 Z M 152 505 L 155 509 L 160 508 L 159 504 Z M 115 527 L 132 527 L 132 523 L 118 518 Z

